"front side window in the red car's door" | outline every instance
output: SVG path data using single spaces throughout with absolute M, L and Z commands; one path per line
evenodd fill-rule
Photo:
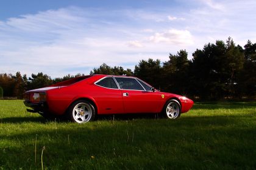
M 144 90 L 141 87 L 140 83 L 133 78 L 123 78 L 123 77 L 115 77 L 116 81 L 118 82 L 120 88 L 126 90 Z

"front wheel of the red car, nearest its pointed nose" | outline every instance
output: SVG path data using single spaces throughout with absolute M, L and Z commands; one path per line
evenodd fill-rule
M 163 107 L 163 115 L 168 119 L 177 119 L 180 116 L 180 103 L 175 99 L 170 99 Z

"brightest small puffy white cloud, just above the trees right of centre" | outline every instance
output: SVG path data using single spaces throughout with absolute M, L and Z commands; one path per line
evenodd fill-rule
M 149 40 L 154 41 L 154 43 L 193 44 L 192 35 L 188 30 L 170 29 L 162 33 L 157 32 L 149 37 Z

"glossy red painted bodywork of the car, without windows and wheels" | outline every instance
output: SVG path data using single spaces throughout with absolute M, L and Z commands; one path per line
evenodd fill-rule
M 187 97 L 182 97 L 177 94 L 163 93 L 160 91 L 111 89 L 94 84 L 103 77 L 127 76 L 93 75 L 74 78 L 51 85 L 51 87 L 26 91 L 25 96 L 30 96 L 30 100 L 26 99 L 25 103 L 38 103 L 38 101 L 32 100 L 32 96 L 34 93 L 44 92 L 46 93 L 46 102 L 44 102 L 44 105 L 47 105 L 46 109 L 48 112 L 55 115 L 63 115 L 69 105 L 78 99 L 91 101 L 99 115 L 118 113 L 160 113 L 166 101 L 169 99 L 179 101 L 182 113 L 185 113 L 190 110 L 194 103 Z M 81 80 L 83 78 L 87 79 Z M 76 82 L 77 80 L 80 81 Z

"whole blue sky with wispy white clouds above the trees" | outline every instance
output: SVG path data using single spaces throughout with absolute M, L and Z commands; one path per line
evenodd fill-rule
M 256 43 L 256 1 L 2 0 L 0 74 L 89 74 L 102 63 L 134 69 L 140 60 L 216 40 Z

